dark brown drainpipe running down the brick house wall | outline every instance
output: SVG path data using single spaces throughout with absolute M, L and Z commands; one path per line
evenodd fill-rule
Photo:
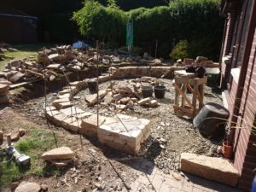
M 247 76 L 247 67 L 248 67 L 248 62 L 249 62 L 250 53 L 251 53 L 252 44 L 253 44 L 253 36 L 254 36 L 254 31 L 256 26 L 256 20 L 255 20 L 256 2 L 255 1 L 253 1 L 252 9 L 253 9 L 252 15 L 250 16 L 249 25 L 248 25 L 246 44 L 244 46 L 245 47 L 244 55 L 241 60 L 241 71 L 239 75 L 238 86 L 236 89 L 236 97 L 235 97 L 235 103 L 233 108 L 233 115 L 230 123 L 230 131 L 227 137 L 228 143 L 230 145 L 234 143 L 236 129 L 232 127 L 236 127 L 236 122 L 237 122 L 238 116 L 240 115 L 241 97 L 242 97 L 243 88 L 244 88 L 244 84 Z

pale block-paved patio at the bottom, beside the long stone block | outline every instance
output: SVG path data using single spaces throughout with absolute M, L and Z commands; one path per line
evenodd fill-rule
M 142 160 L 133 168 L 137 170 L 137 179 L 131 183 L 132 192 L 241 192 L 242 190 L 196 177 L 187 173 L 177 180 L 171 174 L 165 174 L 154 166 L 154 162 Z

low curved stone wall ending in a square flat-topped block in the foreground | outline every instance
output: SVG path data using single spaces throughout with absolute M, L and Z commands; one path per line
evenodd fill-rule
M 109 79 L 111 79 L 109 75 L 99 77 L 100 82 Z M 52 102 L 52 106 L 46 108 L 47 118 L 69 131 L 79 132 L 89 137 L 98 137 L 100 143 L 106 144 L 108 147 L 129 154 L 137 154 L 141 143 L 150 134 L 150 121 L 117 114 L 113 118 L 100 116 L 97 125 L 96 114 L 84 112 L 84 110 L 74 107 L 71 102 L 73 96 L 87 87 L 86 82 L 86 80 L 76 81 L 64 87 L 59 92 L 57 99 Z

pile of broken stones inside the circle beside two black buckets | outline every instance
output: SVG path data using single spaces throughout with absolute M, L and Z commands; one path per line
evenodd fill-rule
M 160 84 L 159 80 L 152 77 L 132 79 L 129 85 L 116 85 L 111 82 L 108 89 L 99 90 L 99 101 L 103 107 L 109 110 L 115 108 L 119 112 L 127 108 L 133 109 L 137 105 L 155 108 L 159 106 L 159 102 L 153 97 L 143 98 L 142 87 L 156 84 Z M 97 102 L 97 94 L 87 95 L 85 100 L 88 106 L 93 106 Z

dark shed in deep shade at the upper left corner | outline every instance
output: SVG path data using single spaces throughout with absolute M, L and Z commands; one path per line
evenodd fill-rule
M 0 6 L 0 42 L 35 44 L 38 42 L 38 17 L 8 5 Z

